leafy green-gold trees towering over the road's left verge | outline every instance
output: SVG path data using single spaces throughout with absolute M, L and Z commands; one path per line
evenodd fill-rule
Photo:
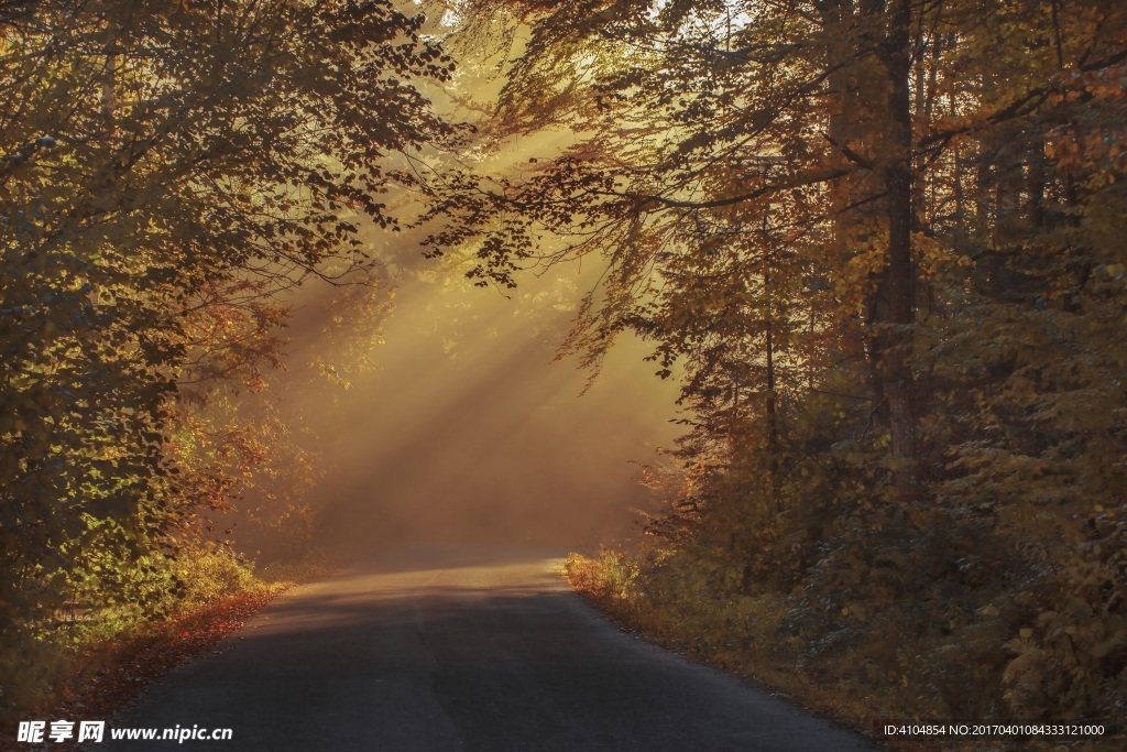
M 6 645 L 167 542 L 181 381 L 252 378 L 265 297 L 371 263 L 387 158 L 453 134 L 416 89 L 452 69 L 421 24 L 385 0 L 0 6 Z M 239 306 L 257 344 L 212 326 Z

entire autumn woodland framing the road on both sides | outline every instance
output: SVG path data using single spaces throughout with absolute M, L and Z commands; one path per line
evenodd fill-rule
M 476 283 L 601 264 L 562 346 L 681 380 L 665 511 L 579 577 L 622 614 L 859 716 L 1124 733 L 1127 7 L 426 9 L 0 0 L 3 674 L 166 602 L 274 293 L 374 274 L 394 183 Z M 472 148 L 417 88 L 463 69 Z

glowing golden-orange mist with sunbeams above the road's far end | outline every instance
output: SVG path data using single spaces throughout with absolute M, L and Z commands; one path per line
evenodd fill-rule
M 272 378 L 323 458 L 308 499 L 318 547 L 574 549 L 637 533 L 632 510 L 651 504 L 639 463 L 680 433 L 676 387 L 654 375 L 637 339 L 616 344 L 595 379 L 558 356 L 592 269 L 559 265 L 503 292 L 423 259 L 409 233 L 384 242 L 397 245 L 370 292 L 392 304 L 348 318 L 357 311 L 341 310 L 339 289 L 310 285 L 293 301 L 286 370 Z M 341 316 L 348 347 L 326 336 Z M 357 352 L 357 342 L 371 345 Z M 349 369 L 348 359 L 370 366 Z M 354 371 L 347 388 L 312 378 L 314 363 Z M 238 530 L 236 539 L 268 556 L 270 541 Z

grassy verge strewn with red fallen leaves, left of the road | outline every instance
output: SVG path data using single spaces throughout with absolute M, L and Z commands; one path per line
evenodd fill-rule
M 39 630 L 24 662 L 32 670 L 6 689 L 11 701 L 0 709 L 0 751 L 20 749 L 20 720 L 108 719 L 150 682 L 241 629 L 278 595 L 336 568 L 307 559 L 256 572 L 219 547 L 185 552 L 175 567 L 179 587 L 158 604 L 159 616 L 91 608 Z

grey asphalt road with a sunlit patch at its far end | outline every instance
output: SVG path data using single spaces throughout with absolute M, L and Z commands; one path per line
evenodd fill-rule
M 621 632 L 530 551 L 388 551 L 275 601 L 90 750 L 869 750 Z M 126 727 L 230 741 L 112 741 Z

